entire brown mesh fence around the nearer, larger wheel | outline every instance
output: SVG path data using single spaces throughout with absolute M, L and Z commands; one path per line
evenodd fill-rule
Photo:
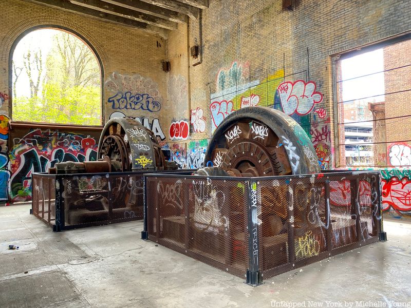
M 375 171 L 265 178 L 147 175 L 145 238 L 257 285 L 378 241 L 379 183 Z

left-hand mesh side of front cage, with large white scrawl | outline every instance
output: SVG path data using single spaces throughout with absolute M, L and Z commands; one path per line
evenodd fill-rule
M 244 277 L 248 268 L 247 183 L 148 177 L 148 238 Z

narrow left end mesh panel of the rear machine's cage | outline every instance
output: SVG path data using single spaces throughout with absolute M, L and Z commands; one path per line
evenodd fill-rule
M 48 225 L 55 224 L 55 182 L 54 177 L 33 174 L 33 215 Z

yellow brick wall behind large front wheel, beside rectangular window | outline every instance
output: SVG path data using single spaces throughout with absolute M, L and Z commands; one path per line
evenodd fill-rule
M 335 163 L 332 55 L 354 50 L 411 29 L 410 7 L 406 1 L 296 1 L 293 11 L 284 11 L 281 1 L 210 0 L 202 12 L 202 63 L 190 67 L 192 108 L 204 110 L 206 130 L 191 138 L 208 139 L 212 133 L 214 101 L 233 101 L 259 95 L 258 105 L 278 104 L 278 84 L 285 81 L 313 81 L 323 101 L 302 117 L 301 123 L 324 158 L 323 167 Z M 190 46 L 199 41 L 198 21 L 190 21 Z M 308 53 L 307 53 L 308 49 Z M 236 95 L 222 91 L 218 75 L 229 73 L 236 63 L 242 72 Z M 285 75 L 285 78 L 281 77 Z M 268 82 L 267 82 L 268 80 Z M 238 87 L 243 87 L 238 91 Z M 277 96 L 277 98 L 275 98 Z M 276 99 L 276 101 L 275 101 Z M 218 105 L 216 105 L 218 106 Z M 324 113 L 326 116 L 320 117 Z M 326 163 L 329 161 L 329 163 Z

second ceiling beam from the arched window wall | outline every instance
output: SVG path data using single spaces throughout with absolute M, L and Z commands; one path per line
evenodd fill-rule
M 70 0 L 72 4 L 76 4 L 92 10 L 117 15 L 120 17 L 128 18 L 137 22 L 147 23 L 149 25 L 176 30 L 177 24 L 175 22 L 164 20 L 163 18 L 148 15 L 145 13 L 129 10 L 117 5 L 108 4 L 99 0 Z

